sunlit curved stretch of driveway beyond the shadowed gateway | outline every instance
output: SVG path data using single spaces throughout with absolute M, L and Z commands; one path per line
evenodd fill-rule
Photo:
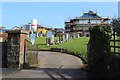
M 81 59 L 73 55 L 57 52 L 39 52 L 40 68 L 80 68 Z

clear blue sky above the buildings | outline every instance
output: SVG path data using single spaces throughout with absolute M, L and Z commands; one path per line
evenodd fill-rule
M 22 26 L 37 19 L 38 24 L 64 28 L 65 20 L 92 10 L 101 17 L 118 17 L 117 2 L 2 2 L 2 27 Z

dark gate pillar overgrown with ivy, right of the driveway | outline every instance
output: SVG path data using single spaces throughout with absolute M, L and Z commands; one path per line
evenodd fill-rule
M 95 70 L 105 65 L 106 55 L 110 52 L 110 39 L 112 36 L 112 26 L 98 25 L 90 27 L 90 54 L 91 67 Z M 102 69 L 101 67 L 101 69 Z M 104 69 L 102 69 L 104 70 Z

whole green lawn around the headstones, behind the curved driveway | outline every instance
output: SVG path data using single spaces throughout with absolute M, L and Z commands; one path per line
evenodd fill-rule
M 28 44 L 30 47 L 29 49 L 37 49 L 37 45 L 38 44 L 38 48 L 39 49 L 50 49 L 50 48 L 61 48 L 61 44 L 57 44 L 57 45 L 50 45 L 49 46 L 46 45 L 46 38 L 47 37 L 38 37 L 35 39 L 35 45 L 32 46 L 31 44 Z M 56 41 L 57 39 L 59 39 L 59 37 L 55 37 L 54 41 Z M 30 41 L 30 39 L 28 39 Z M 83 58 L 87 58 L 87 43 L 89 41 L 89 37 L 80 37 L 80 38 L 76 38 L 73 40 L 69 40 L 68 42 L 64 42 L 62 43 L 62 48 L 66 49 L 68 52 L 74 52 L 77 55 L 82 56 Z

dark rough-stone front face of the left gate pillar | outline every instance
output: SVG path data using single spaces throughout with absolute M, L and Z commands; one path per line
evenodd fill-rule
M 19 34 L 8 34 L 7 66 L 18 68 L 19 66 Z

